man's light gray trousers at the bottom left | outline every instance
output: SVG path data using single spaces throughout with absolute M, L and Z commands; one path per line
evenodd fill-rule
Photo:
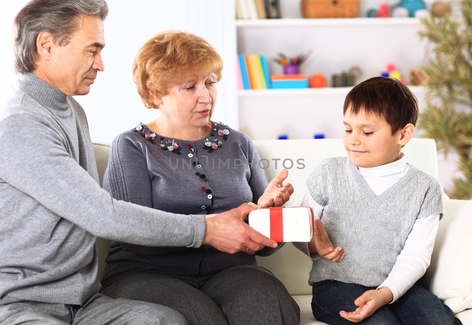
M 18 300 L 18 299 L 14 299 Z M 94 294 L 83 306 L 13 301 L 0 305 L 1 325 L 187 324 L 177 311 L 152 303 Z

